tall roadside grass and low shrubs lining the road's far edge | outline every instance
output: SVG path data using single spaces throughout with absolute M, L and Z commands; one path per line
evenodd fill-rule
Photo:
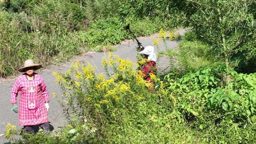
M 43 67 L 67 61 L 73 56 L 88 51 L 112 51 L 110 45 L 121 43 L 125 39 L 133 39 L 124 30 L 118 18 L 107 18 L 88 24 L 80 31 L 69 31 L 65 19 L 42 21 L 36 16 L 24 13 L 0 12 L 0 76 L 17 74 L 16 70 L 23 66 L 26 59 L 33 59 Z M 31 28 L 22 29 L 24 17 L 31 19 Z M 93 25 L 104 25 L 95 27 Z M 89 28 L 92 26 L 92 28 Z M 158 21 L 134 21 L 131 30 L 136 36 L 147 36 L 159 31 L 164 25 Z

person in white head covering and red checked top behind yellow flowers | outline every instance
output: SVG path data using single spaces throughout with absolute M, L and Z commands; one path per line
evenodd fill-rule
M 141 72 L 143 74 L 144 79 L 151 84 L 149 88 L 152 89 L 154 82 L 150 80 L 151 77 L 149 74 L 156 72 L 156 53 L 154 51 L 154 47 L 146 46 L 144 48 L 141 46 L 141 51 L 139 53 L 144 54 L 145 58 L 150 60 L 149 62 L 143 64 Z

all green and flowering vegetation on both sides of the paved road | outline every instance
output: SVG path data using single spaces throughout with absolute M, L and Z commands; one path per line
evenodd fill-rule
M 25 59 L 45 65 L 182 25 L 179 50 L 161 52 L 170 72 L 148 89 L 128 60 L 110 53 L 106 71 L 73 63 L 54 73 L 67 125 L 15 143 L 256 143 L 255 3 L 248 0 L 13 0 L 1 3 L 1 76 Z M 119 16 L 116 13 L 119 12 Z M 119 18 L 122 21 L 119 21 Z M 141 21 L 143 20 L 143 21 Z M 163 30 L 159 35 L 163 36 Z M 156 45 L 157 46 L 157 45 Z M 139 71 L 140 72 L 140 71 Z M 240 73 L 243 72 L 243 73 Z M 7 125 L 6 138 L 18 134 Z M 23 134 L 24 135 L 24 134 Z

